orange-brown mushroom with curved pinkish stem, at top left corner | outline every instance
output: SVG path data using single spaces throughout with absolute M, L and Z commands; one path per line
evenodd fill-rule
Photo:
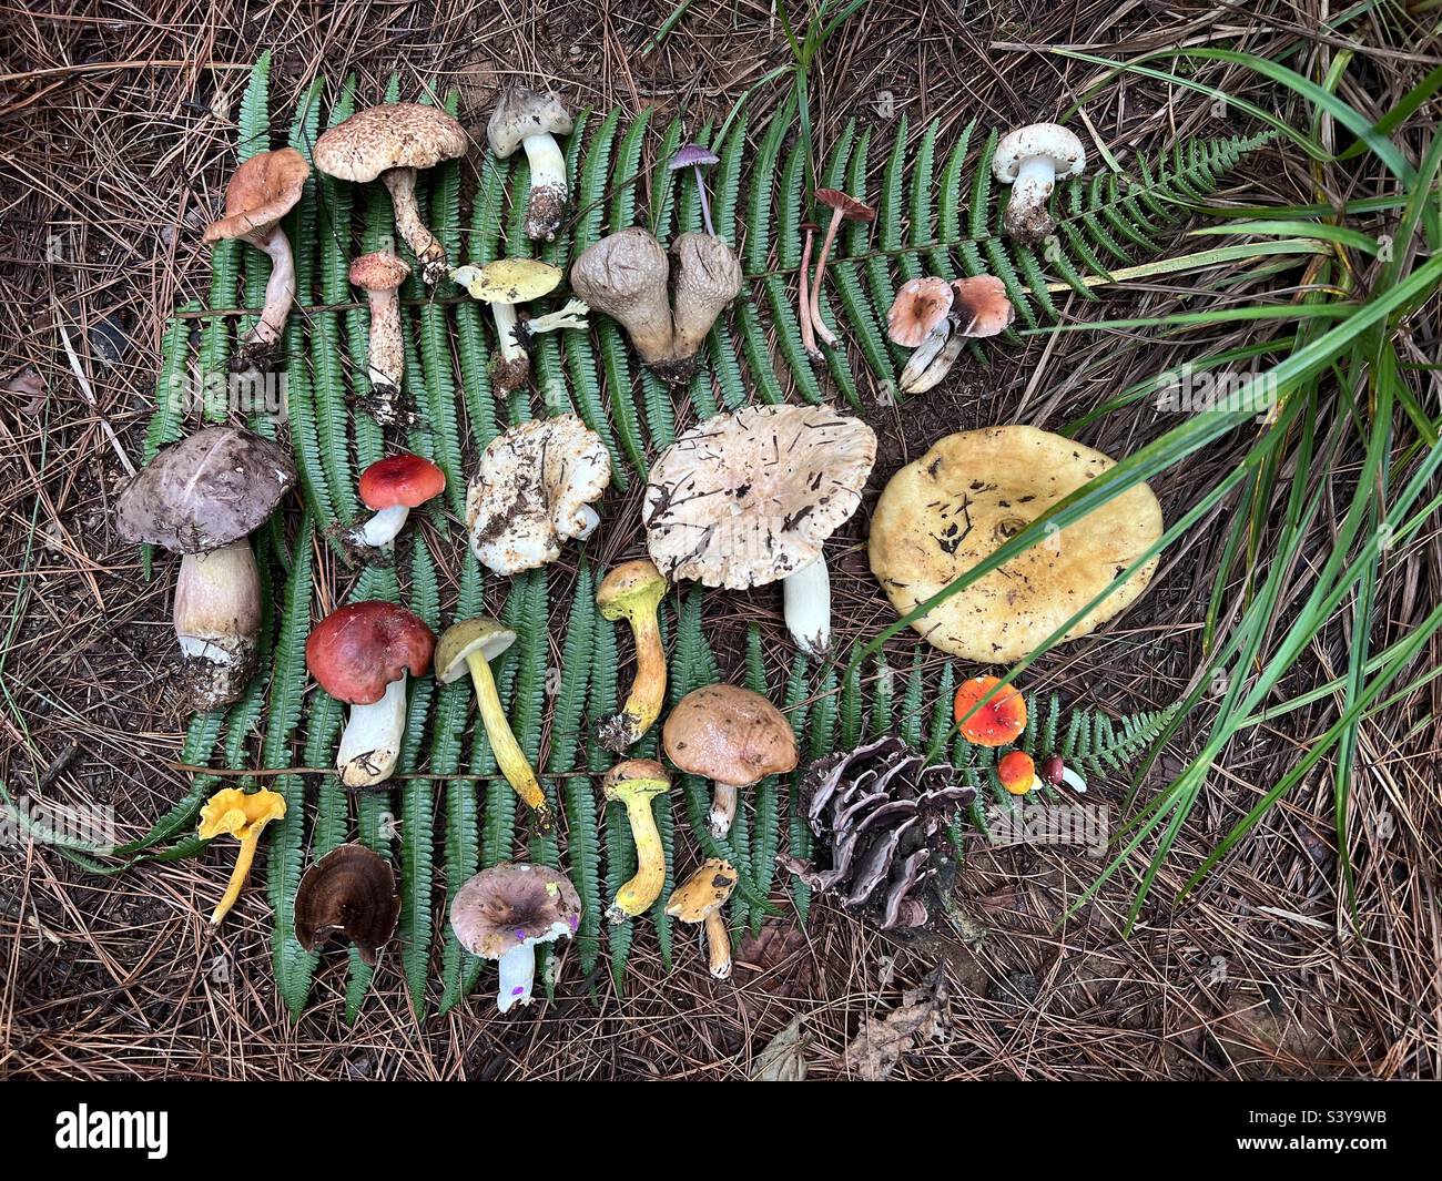
M 211 222 L 205 242 L 248 242 L 271 260 L 265 281 L 265 307 L 231 358 L 231 371 L 270 369 L 280 355 L 286 317 L 296 301 L 296 260 L 280 222 L 306 190 L 310 164 L 293 147 L 258 151 L 241 164 L 225 186 L 225 216 Z

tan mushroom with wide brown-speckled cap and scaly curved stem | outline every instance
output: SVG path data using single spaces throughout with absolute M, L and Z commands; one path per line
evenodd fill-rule
M 446 274 L 446 247 L 421 221 L 415 173 L 466 154 L 466 128 L 438 107 L 385 102 L 356 111 L 316 140 L 316 167 L 365 185 L 376 177 L 391 192 L 395 226 L 433 286 Z

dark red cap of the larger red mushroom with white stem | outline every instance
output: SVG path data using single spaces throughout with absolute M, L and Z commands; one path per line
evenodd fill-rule
M 306 637 L 306 668 L 320 688 L 349 705 L 373 705 L 407 672 L 431 666 L 435 636 L 395 603 L 350 603 L 326 616 Z

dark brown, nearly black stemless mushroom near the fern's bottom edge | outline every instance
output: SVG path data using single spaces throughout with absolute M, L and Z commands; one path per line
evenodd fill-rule
M 306 870 L 296 891 L 296 942 L 317 950 L 336 934 L 350 940 L 362 963 L 395 933 L 401 895 L 395 871 L 365 845 L 339 845 Z

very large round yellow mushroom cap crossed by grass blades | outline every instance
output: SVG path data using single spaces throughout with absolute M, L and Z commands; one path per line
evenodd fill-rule
M 871 572 L 906 614 L 1110 467 L 1100 451 L 1035 427 L 946 435 L 881 493 L 871 518 Z M 1161 506 L 1146 485 L 1136 485 L 982 575 L 913 627 L 968 660 L 1019 660 L 1161 534 Z M 1152 558 L 1066 639 L 1084 636 L 1132 603 L 1155 570 Z

